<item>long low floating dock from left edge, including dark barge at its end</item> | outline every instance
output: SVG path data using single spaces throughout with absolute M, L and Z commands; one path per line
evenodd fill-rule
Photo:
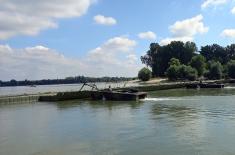
M 147 93 L 122 93 L 122 92 L 103 92 L 103 91 L 76 91 L 76 92 L 59 92 L 51 94 L 34 94 L 34 95 L 17 95 L 1 96 L 0 105 L 6 104 L 23 104 L 36 102 L 57 102 L 76 99 L 87 100 L 113 100 L 113 101 L 130 101 L 139 100 L 147 96 Z

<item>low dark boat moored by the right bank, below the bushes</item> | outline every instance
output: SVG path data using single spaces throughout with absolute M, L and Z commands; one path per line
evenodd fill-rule
M 188 89 L 198 89 L 198 88 L 224 88 L 224 84 L 217 83 L 194 83 L 186 85 Z

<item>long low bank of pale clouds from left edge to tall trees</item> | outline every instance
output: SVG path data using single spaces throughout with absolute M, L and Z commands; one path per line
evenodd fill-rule
M 15 49 L 0 45 L 0 80 L 136 76 L 142 65 L 135 46 L 134 40 L 115 37 L 89 51 L 85 58 L 70 58 L 44 46 Z

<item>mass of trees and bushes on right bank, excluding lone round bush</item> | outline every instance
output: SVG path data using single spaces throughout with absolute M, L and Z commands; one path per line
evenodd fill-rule
M 151 43 L 141 61 L 152 69 L 153 77 L 167 76 L 170 80 L 235 78 L 235 44 L 206 45 L 198 50 L 194 42 L 173 41 L 164 46 Z

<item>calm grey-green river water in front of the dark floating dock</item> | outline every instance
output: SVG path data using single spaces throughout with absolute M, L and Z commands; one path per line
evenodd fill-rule
M 235 89 L 0 106 L 1 155 L 234 155 Z

